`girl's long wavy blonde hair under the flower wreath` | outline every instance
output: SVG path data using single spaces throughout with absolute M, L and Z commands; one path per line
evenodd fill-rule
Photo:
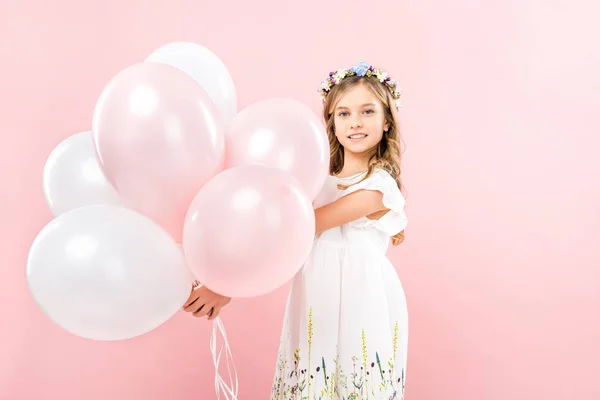
M 323 119 L 325 121 L 327 135 L 329 136 L 329 173 L 331 175 L 337 175 L 344 167 L 344 149 L 335 136 L 333 109 L 344 93 L 346 93 L 350 88 L 359 84 L 364 84 L 379 99 L 383 105 L 385 122 L 389 126 L 389 129 L 383 133 L 381 141 L 377 145 L 377 151 L 375 151 L 369 159 L 367 173 L 360 182 L 367 179 L 375 169 L 383 169 L 394 178 L 398 184 L 398 189 L 404 192 L 404 187 L 400 179 L 400 165 L 403 148 L 401 146 L 402 137 L 400 135 L 396 103 L 390 90 L 373 76 L 346 77 L 338 84 L 333 86 L 325 98 L 325 104 L 323 106 Z M 392 244 L 394 246 L 399 245 L 403 241 L 404 231 L 392 236 Z

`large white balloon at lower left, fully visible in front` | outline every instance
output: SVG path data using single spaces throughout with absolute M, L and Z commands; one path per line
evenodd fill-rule
M 46 225 L 29 251 L 27 281 L 52 321 L 107 341 L 157 328 L 192 288 L 173 238 L 151 219 L 109 205 L 77 208 Z

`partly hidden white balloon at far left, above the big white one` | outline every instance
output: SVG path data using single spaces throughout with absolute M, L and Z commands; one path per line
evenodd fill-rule
M 44 165 L 43 188 L 54 216 L 88 205 L 125 204 L 102 172 L 89 131 L 66 138 L 50 153 Z

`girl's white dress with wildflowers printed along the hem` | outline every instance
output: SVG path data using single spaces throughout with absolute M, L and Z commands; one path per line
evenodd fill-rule
M 315 200 L 328 204 L 360 189 L 383 193 L 390 211 L 360 218 L 315 238 L 292 282 L 271 400 L 401 400 L 408 312 L 402 284 L 386 257 L 390 236 L 407 223 L 394 179 L 376 170 L 363 182 L 330 176 Z

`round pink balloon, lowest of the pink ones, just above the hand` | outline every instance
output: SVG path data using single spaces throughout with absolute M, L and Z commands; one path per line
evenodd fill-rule
M 315 235 L 315 216 L 302 186 L 261 165 L 225 170 L 194 198 L 183 249 L 196 278 L 230 297 L 254 297 L 290 280 Z

